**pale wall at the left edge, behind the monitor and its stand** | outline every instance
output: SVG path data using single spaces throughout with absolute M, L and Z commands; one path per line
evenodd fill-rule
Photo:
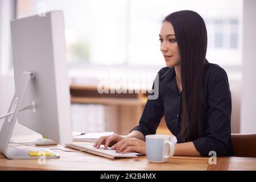
M 0 115 L 7 113 L 15 92 L 13 73 L 9 73 L 9 66 L 12 61 L 10 20 L 14 18 L 15 1 L 0 0 Z M 0 120 L 0 129 L 3 121 L 4 119 Z M 34 131 L 16 123 L 13 136 L 27 133 L 34 133 Z

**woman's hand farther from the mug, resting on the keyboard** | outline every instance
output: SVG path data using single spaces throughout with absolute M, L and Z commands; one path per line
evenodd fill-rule
M 113 134 L 113 135 L 109 135 L 109 136 L 104 136 L 99 138 L 95 143 L 94 143 L 94 147 L 96 148 L 100 148 L 101 144 L 105 144 L 104 149 L 108 148 L 108 146 L 113 146 L 113 144 L 119 142 L 120 140 L 122 140 L 123 137 L 117 135 L 117 134 Z

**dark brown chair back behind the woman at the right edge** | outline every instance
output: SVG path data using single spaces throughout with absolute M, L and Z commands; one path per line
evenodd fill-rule
M 256 158 L 256 133 L 231 134 L 234 156 Z

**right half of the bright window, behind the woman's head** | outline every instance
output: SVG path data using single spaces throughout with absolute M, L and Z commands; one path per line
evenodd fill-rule
M 232 6 L 230 6 L 232 5 Z M 242 1 L 130 1 L 130 65 L 163 64 L 158 33 L 164 16 L 193 10 L 205 20 L 207 59 L 222 67 L 241 66 Z M 164 66 L 164 65 L 163 65 Z M 238 68 L 240 69 L 240 68 Z

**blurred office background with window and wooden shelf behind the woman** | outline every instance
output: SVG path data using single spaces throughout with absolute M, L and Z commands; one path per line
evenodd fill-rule
M 0 114 L 15 90 L 10 20 L 51 10 L 64 11 L 73 130 L 127 134 L 136 126 L 147 94 L 97 94 L 100 76 L 115 73 L 115 82 L 139 78 L 140 88 L 148 86 L 147 77 L 151 87 L 165 67 L 158 40 L 162 20 L 174 11 L 193 10 L 207 26 L 207 59 L 228 73 L 232 133 L 256 133 L 253 0 L 0 0 Z M 162 120 L 157 132 L 168 133 Z M 14 134 L 27 132 L 17 124 Z

